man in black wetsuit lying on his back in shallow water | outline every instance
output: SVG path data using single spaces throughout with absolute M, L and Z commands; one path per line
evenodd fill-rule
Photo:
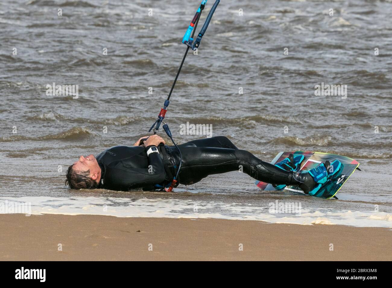
M 129 191 L 154 190 L 167 186 L 180 161 L 178 150 L 165 145 L 158 135 L 140 138 L 134 146 L 114 146 L 94 157 L 80 156 L 67 170 L 69 188 L 105 188 Z M 140 142 L 142 141 L 142 143 Z M 286 158 L 277 165 L 261 161 L 252 153 L 238 149 L 223 136 L 193 140 L 178 148 L 182 154 L 178 184 L 191 185 L 211 175 L 243 169 L 259 181 L 278 187 L 296 185 L 305 193 L 314 190 L 317 179 L 307 171 L 298 173 L 300 163 Z M 328 167 L 322 167 L 325 174 Z M 315 174 L 315 173 L 313 173 Z M 319 176 L 317 176 L 319 177 Z M 315 181 L 316 180 L 316 181 Z M 312 194 L 311 194 L 312 195 Z

